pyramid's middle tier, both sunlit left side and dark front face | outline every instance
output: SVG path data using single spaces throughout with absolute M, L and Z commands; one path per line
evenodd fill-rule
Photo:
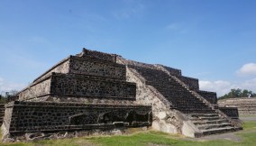
M 19 94 L 19 100 L 42 96 L 104 97 L 135 100 L 136 84 L 120 79 L 52 73 Z

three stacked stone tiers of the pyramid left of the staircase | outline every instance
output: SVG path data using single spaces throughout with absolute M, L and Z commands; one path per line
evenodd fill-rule
M 136 104 L 136 84 L 125 74 L 113 54 L 84 49 L 63 59 L 5 105 L 4 140 L 151 126 L 151 105 Z

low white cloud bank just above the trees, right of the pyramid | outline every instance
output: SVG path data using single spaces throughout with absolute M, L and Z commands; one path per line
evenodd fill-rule
M 224 80 L 201 80 L 199 81 L 199 87 L 201 90 L 216 92 L 217 96 L 224 96 L 224 94 L 229 93 L 232 88 L 248 89 L 256 93 L 256 78 L 245 80 L 242 83 L 232 83 Z

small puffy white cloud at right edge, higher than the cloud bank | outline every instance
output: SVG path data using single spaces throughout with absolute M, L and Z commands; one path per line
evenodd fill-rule
M 247 63 L 237 71 L 239 76 L 256 76 L 256 63 Z

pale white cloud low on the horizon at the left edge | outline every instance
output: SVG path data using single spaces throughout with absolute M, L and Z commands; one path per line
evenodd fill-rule
M 26 84 L 23 83 L 13 83 L 5 81 L 4 78 L 0 78 L 0 94 L 4 95 L 5 92 L 11 91 L 11 90 L 21 90 L 23 87 L 26 87 Z

